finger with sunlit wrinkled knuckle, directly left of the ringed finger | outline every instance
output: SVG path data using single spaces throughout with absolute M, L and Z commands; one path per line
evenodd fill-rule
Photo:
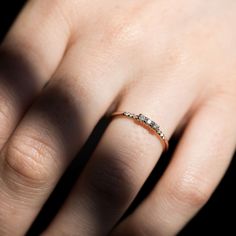
M 9 234 L 23 235 L 27 230 L 123 86 L 126 71 L 122 73 L 119 66 L 110 70 L 106 62 L 111 59 L 82 53 L 80 49 L 85 47 L 78 42 L 69 49 L 4 147 L 0 221 Z M 75 61 L 80 61 L 80 67 Z M 112 75 L 113 80 L 109 79 Z M 6 217 L 4 212 L 11 209 L 14 215 Z

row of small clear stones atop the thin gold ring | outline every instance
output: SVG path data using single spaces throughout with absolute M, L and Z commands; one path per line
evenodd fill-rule
M 164 133 L 160 130 L 160 126 L 155 123 L 153 120 L 151 120 L 150 118 L 146 117 L 143 114 L 139 114 L 138 116 L 130 113 L 130 112 L 124 112 L 123 113 L 124 116 L 127 116 L 129 118 L 134 118 L 137 119 L 138 121 L 144 123 L 145 125 L 149 126 L 150 128 L 152 128 L 163 140 L 165 139 L 165 135 Z

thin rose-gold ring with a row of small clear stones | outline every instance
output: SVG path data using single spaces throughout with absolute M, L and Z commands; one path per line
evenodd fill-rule
M 163 145 L 164 151 L 168 150 L 169 142 L 166 139 L 164 133 L 161 131 L 160 126 L 156 122 L 151 120 L 150 118 L 146 117 L 145 115 L 143 115 L 143 114 L 136 115 L 136 114 L 133 114 L 133 113 L 130 113 L 130 112 L 126 112 L 126 111 L 125 112 L 116 111 L 116 112 L 113 112 L 111 114 L 111 116 L 112 117 L 114 117 L 114 116 L 124 116 L 124 117 L 132 118 L 134 120 L 137 120 L 137 121 L 141 122 L 146 127 L 149 127 L 153 131 L 155 131 L 155 133 L 158 135 L 158 137 L 161 140 L 161 143 Z

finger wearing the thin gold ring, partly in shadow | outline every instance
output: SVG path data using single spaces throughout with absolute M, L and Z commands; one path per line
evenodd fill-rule
M 139 81 L 123 97 L 117 110 L 144 112 L 170 137 L 193 99 L 176 93 L 176 85 L 150 86 Z M 150 85 L 150 84 L 149 84 Z M 193 90 L 189 90 L 193 91 Z M 178 99 L 169 100 L 169 94 Z M 165 116 L 166 109 L 174 115 Z M 162 151 L 160 140 L 129 119 L 114 119 L 106 130 L 77 185 L 46 235 L 106 235 L 127 209 Z

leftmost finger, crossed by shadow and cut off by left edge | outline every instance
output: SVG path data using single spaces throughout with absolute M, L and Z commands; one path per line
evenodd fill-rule
M 0 149 L 64 54 L 70 29 L 57 5 L 29 1 L 1 45 Z

